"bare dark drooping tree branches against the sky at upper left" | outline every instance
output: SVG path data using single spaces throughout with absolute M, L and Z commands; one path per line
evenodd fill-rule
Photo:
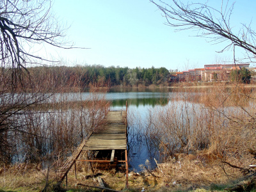
M 0 3 L 1 67 L 12 68 L 13 80 L 27 63 L 49 61 L 29 52 L 35 44 L 49 44 L 64 49 L 74 48 L 65 41 L 67 26 L 51 13 L 51 0 L 3 0 Z

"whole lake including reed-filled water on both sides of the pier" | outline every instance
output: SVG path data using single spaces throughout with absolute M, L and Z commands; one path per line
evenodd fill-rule
M 93 115 L 90 118 L 93 109 L 85 106 L 79 108 L 86 102 L 80 104 L 77 101 L 93 99 L 95 102 L 90 106 L 100 108 L 97 106 L 98 101 L 106 99 L 111 101 L 113 109 L 124 109 L 127 102 L 127 147 L 130 170 L 140 172 L 140 164 L 154 168 L 155 159 L 163 162 L 173 153 L 188 154 L 209 146 L 212 136 L 218 137 L 218 132 L 232 123 L 230 117 L 232 120 L 234 116 L 238 116 L 239 120 L 243 120 L 248 119 L 248 114 L 255 114 L 255 101 L 241 95 L 240 90 L 237 91 L 238 93 L 235 91 L 225 86 L 216 86 L 215 88 L 111 88 L 107 93 L 56 93 L 49 97 L 49 100 L 45 100 L 53 105 L 49 105 L 50 108 L 45 105 L 47 108 L 42 108 L 42 113 L 25 111 L 28 112 L 28 115 L 24 113 L 26 118 L 19 114 L 17 118 L 13 116 L 15 121 L 20 118 L 18 123 L 25 130 L 47 137 L 38 137 L 40 140 L 29 138 L 29 141 L 33 141 L 34 147 L 30 146 L 31 142 L 20 142 L 17 145 L 17 154 L 11 157 L 15 162 L 22 162 L 25 157 L 36 159 L 40 158 L 41 154 L 42 156 L 48 153 L 54 154 L 62 151 L 63 148 L 63 156 L 69 154 L 72 147 L 79 145 L 81 137 L 88 134 L 90 127 L 97 124 L 97 120 L 100 121 L 100 115 L 99 118 L 93 118 Z M 230 96 L 233 92 L 234 94 Z M 253 90 L 248 89 L 243 92 L 251 93 Z M 13 98 L 15 100 L 18 97 Z M 58 103 L 60 100 L 61 102 Z M 243 104 L 243 108 L 239 108 L 239 104 Z M 25 124 L 23 124 L 24 119 L 28 120 Z M 31 122 L 35 126 L 30 127 Z M 28 139 L 27 135 L 24 136 L 25 140 L 20 137 L 22 135 L 10 132 L 12 143 Z M 26 151 L 26 148 L 37 149 L 37 147 L 42 151 L 41 154 L 37 155 L 36 152 L 28 154 Z

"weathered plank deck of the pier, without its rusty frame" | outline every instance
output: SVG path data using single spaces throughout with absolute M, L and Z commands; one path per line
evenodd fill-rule
M 104 118 L 104 127 L 93 133 L 83 150 L 118 150 L 127 148 L 126 111 L 109 111 Z

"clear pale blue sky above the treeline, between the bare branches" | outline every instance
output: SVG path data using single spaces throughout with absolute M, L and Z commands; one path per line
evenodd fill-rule
M 210 0 L 213 2 L 217 8 L 221 6 L 220 0 Z M 232 25 L 238 28 L 241 22 L 250 22 L 255 5 L 253 0 L 237 2 Z M 47 54 L 65 60 L 65 65 L 186 70 L 222 60 L 232 61 L 232 51 L 216 52 L 223 45 L 212 45 L 204 38 L 194 37 L 193 31 L 175 32 L 164 25 L 162 13 L 148 0 L 55 0 L 52 11 L 64 24 L 70 25 L 67 33 L 70 41 L 77 47 L 91 48 L 47 48 Z

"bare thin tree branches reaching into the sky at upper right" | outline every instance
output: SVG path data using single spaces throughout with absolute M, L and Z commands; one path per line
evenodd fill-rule
M 246 52 L 246 59 L 255 62 L 256 56 L 256 33 L 250 24 L 242 24 L 236 31 L 232 28 L 232 13 L 235 3 L 228 0 L 221 2 L 220 10 L 209 6 L 207 3 L 182 3 L 184 1 L 170 0 L 150 0 L 164 13 L 166 25 L 177 28 L 177 30 L 193 29 L 197 30 L 196 36 L 208 38 L 213 44 L 225 43 L 222 51 L 241 47 Z M 195 2 L 195 1 L 194 1 Z M 244 60 L 242 60 L 244 61 Z

